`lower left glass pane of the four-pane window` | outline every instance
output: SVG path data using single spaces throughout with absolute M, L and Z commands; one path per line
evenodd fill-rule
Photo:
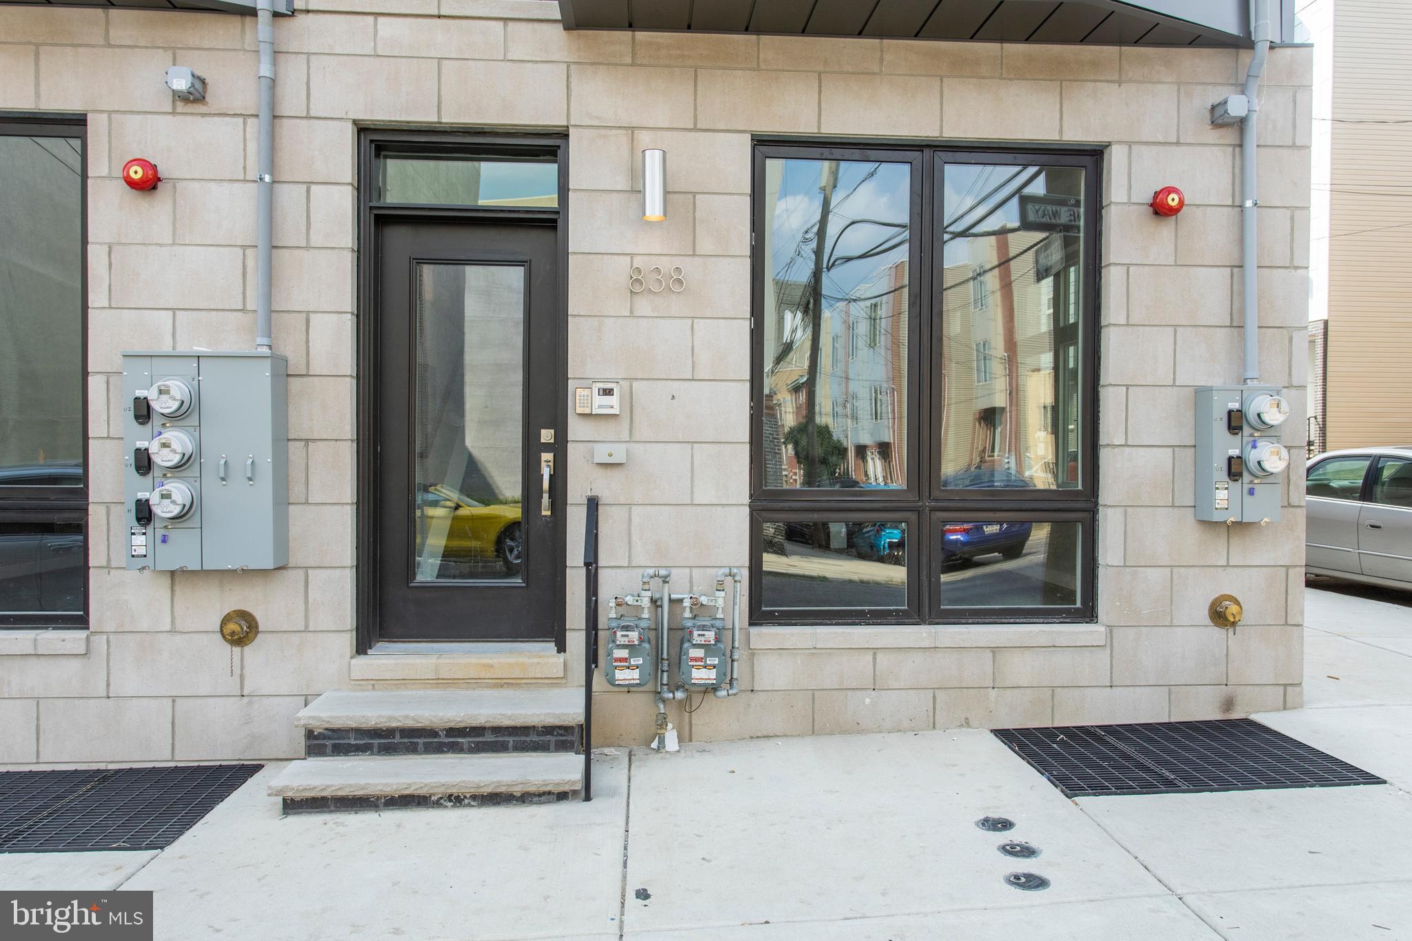
M 905 608 L 905 522 L 762 522 L 761 607 Z

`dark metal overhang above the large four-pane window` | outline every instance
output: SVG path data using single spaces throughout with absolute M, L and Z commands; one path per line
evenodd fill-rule
M 1295 0 L 1272 0 L 1275 41 Z M 559 0 L 565 30 L 1250 47 L 1248 0 Z

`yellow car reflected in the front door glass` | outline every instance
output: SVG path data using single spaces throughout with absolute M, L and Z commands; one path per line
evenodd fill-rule
M 418 536 L 424 560 L 484 564 L 500 560 L 505 571 L 520 571 L 524 536 L 520 504 L 481 504 L 432 484 L 417 495 Z

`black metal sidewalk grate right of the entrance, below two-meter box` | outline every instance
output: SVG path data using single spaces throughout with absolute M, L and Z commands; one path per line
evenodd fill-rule
M 1065 797 L 1385 784 L 1254 720 L 995 729 Z

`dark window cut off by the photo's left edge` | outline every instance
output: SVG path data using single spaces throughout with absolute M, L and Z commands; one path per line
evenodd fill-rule
M 0 116 L 0 628 L 85 626 L 83 123 Z

